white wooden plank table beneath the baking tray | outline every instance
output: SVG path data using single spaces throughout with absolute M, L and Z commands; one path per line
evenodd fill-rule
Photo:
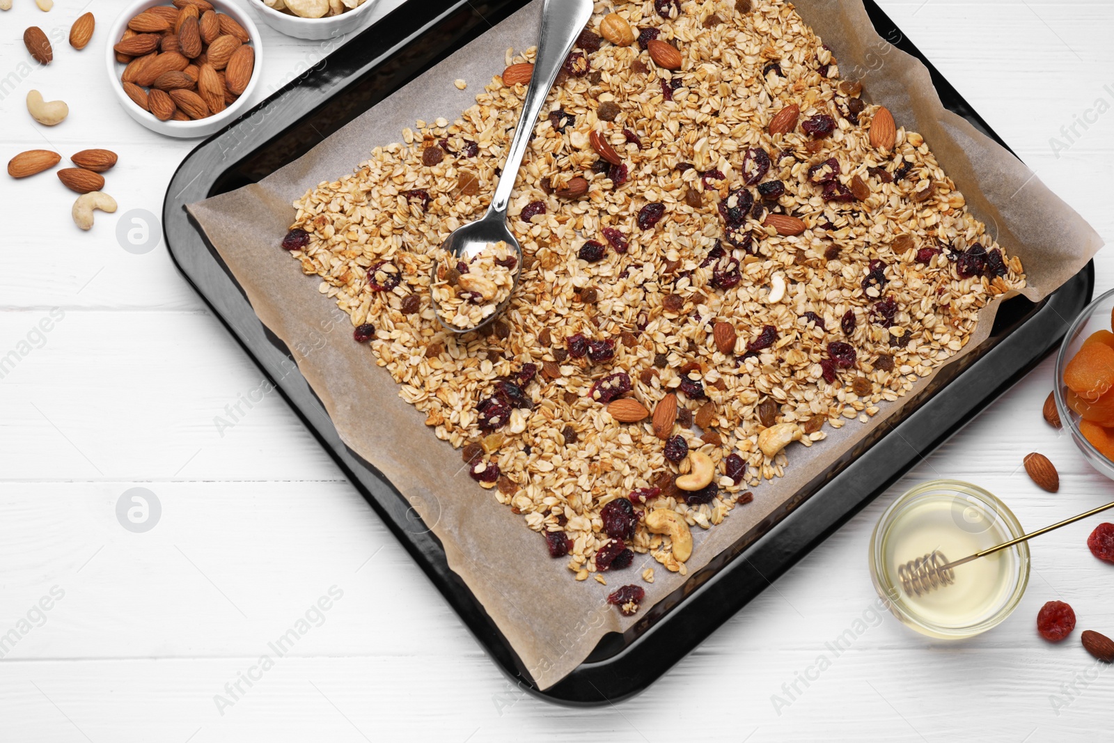
M 36 147 L 120 155 L 106 186 L 120 211 L 88 234 L 55 176 L 0 176 L 0 358 L 18 356 L 0 379 L 0 741 L 1110 739 L 1114 672 L 1078 643 L 1088 627 L 1114 634 L 1114 568 L 1084 546 L 1096 520 L 1035 542 L 1022 606 L 974 641 L 928 641 L 872 610 L 870 530 L 915 482 L 974 480 L 1030 528 L 1110 499 L 1111 482 L 1040 419 L 1051 361 L 641 696 L 585 711 L 517 691 L 286 404 L 260 400 L 260 373 L 165 246 L 121 247 L 117 225 L 160 212 L 193 143 L 141 129 L 109 97 L 99 35 L 121 1 L 88 4 L 99 29 L 84 52 L 62 41 L 49 68 L 22 67 L 22 29 L 68 29 L 84 1 L 45 14 L 14 0 L 0 13 L 0 159 Z M 1114 237 L 1114 6 L 883 6 Z M 266 94 L 320 58 L 316 42 L 263 33 Z M 32 88 L 68 101 L 69 119 L 33 124 Z M 1072 134 L 1077 118 L 1087 128 Z M 1114 254 L 1096 264 L 1098 291 L 1110 289 Z M 36 330 L 43 319 L 49 331 Z M 222 430 L 216 418 L 232 414 Z M 1033 450 L 1059 468 L 1058 495 L 1026 477 Z M 160 504 L 146 532 L 116 515 L 136 487 Z M 315 612 L 321 597 L 330 608 Z M 1061 646 L 1034 629 L 1053 598 L 1079 616 Z M 303 636 L 258 667 L 307 612 Z M 827 644 L 856 627 L 837 657 Z M 830 665 L 818 672 L 821 655 Z

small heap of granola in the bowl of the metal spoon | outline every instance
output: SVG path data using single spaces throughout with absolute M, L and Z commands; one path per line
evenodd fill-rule
M 510 296 L 518 268 L 516 252 L 507 243 L 491 243 L 469 261 L 458 261 L 446 251 L 433 252 L 437 274 L 430 291 L 434 306 L 447 324 L 476 327 L 495 314 Z

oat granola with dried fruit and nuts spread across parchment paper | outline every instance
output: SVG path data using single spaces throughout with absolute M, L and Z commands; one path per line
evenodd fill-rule
M 538 549 L 605 583 L 635 553 L 684 573 L 690 528 L 898 400 L 1025 277 L 790 3 L 597 9 L 516 184 L 519 286 L 482 333 L 437 322 L 432 255 L 483 213 L 520 84 L 311 189 L 284 246 Z M 508 79 L 532 55 L 508 50 Z

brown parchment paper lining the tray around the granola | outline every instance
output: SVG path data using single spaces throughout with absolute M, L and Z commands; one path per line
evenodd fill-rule
M 1032 172 L 1005 149 L 946 110 L 928 70 L 880 38 L 859 0 L 798 0 L 804 20 L 831 46 L 847 79 L 862 79 L 871 102 L 887 106 L 900 125 L 924 135 L 948 175 L 1008 254 L 1024 262 L 1039 300 L 1077 273 L 1101 247 L 1098 235 Z M 302 374 L 321 398 L 343 441 L 375 466 L 407 497 L 444 545 L 460 575 L 507 636 L 541 688 L 575 668 L 607 632 L 623 632 L 655 602 L 685 580 L 639 555 L 623 575 L 606 574 L 608 586 L 576 583 L 564 559 L 551 559 L 520 516 L 496 502 L 461 471 L 459 450 L 439 441 L 423 416 L 404 403 L 390 374 L 373 363 L 349 330 L 325 338 L 322 329 L 348 329 L 334 301 L 317 293 L 320 280 L 276 245 L 294 218 L 291 203 L 307 188 L 352 172 L 372 147 L 401 139 L 417 119 L 453 120 L 475 102 L 492 75 L 502 71 L 504 51 L 536 45 L 540 0 L 536 0 L 470 46 L 353 120 L 301 159 L 255 185 L 189 205 L 260 319 L 293 349 Z M 896 39 L 892 39 L 896 41 Z M 452 81 L 465 78 L 467 90 Z M 989 333 L 997 303 L 984 310 L 975 336 Z M 929 378 L 930 379 L 930 378 Z M 921 380 L 910 397 L 924 389 Z M 690 574 L 740 539 L 839 454 L 900 409 L 882 405 L 869 423 L 849 421 L 808 452 L 798 449 L 785 477 L 754 489 L 754 502 L 736 508 L 723 524 L 694 528 Z M 644 566 L 655 581 L 639 579 Z M 604 599 L 624 583 L 646 589 L 643 608 L 623 617 Z

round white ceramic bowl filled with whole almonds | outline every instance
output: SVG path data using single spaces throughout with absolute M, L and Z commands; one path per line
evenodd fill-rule
M 219 114 L 214 114 L 213 116 L 203 119 L 192 121 L 160 121 L 155 118 L 152 113 L 145 111 L 136 106 L 135 101 L 128 98 L 128 94 L 124 92 L 124 86 L 120 85 L 120 75 L 127 66 L 116 61 L 116 52 L 113 51 L 113 47 L 120 40 L 120 37 L 124 36 L 124 29 L 127 28 L 129 20 L 148 8 L 154 8 L 155 6 L 168 6 L 170 4 L 169 0 L 164 0 L 162 2 L 158 0 L 139 0 L 138 2 L 134 2 L 128 6 L 115 21 L 113 21 L 111 27 L 108 29 L 108 36 L 105 42 L 105 65 L 108 70 L 109 87 L 111 87 L 111 89 L 116 92 L 116 98 L 120 101 L 120 106 L 124 107 L 124 110 L 128 113 L 128 116 L 152 131 L 165 134 L 169 137 L 207 137 L 211 134 L 224 128 L 228 121 L 240 116 L 250 107 L 248 101 L 258 85 L 260 69 L 263 65 L 263 45 L 260 42 L 260 29 L 255 26 L 248 14 L 237 6 L 231 2 L 221 2 L 219 0 L 211 1 L 217 12 L 227 13 L 231 18 L 235 19 L 241 26 L 244 27 L 244 30 L 247 31 L 247 35 L 252 38 L 252 47 L 255 48 L 255 69 L 252 72 L 252 79 L 247 84 L 247 88 L 244 89 L 243 95 L 240 96 L 235 102 Z

